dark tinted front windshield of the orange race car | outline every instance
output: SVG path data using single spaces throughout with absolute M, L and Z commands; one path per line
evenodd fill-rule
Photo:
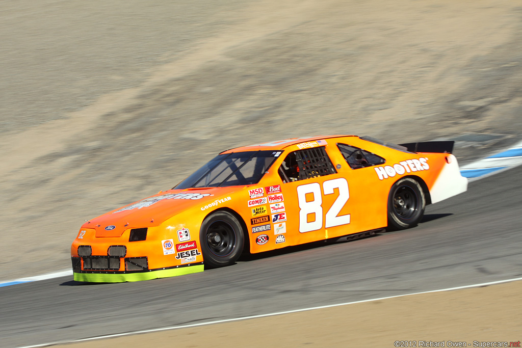
M 282 151 L 219 154 L 174 188 L 257 184 Z

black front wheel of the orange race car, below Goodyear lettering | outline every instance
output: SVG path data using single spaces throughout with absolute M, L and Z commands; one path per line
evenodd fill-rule
M 233 265 L 241 256 L 245 236 L 241 223 L 232 213 L 218 211 L 203 220 L 199 241 L 205 265 L 218 268 Z

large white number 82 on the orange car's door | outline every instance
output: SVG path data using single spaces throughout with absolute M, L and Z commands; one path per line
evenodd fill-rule
M 325 215 L 325 228 L 346 225 L 350 223 L 350 214 L 337 216 L 342 207 L 345 206 L 348 198 L 350 198 L 350 191 L 348 190 L 348 182 L 345 178 L 327 180 L 323 183 L 324 195 L 331 195 L 334 189 L 339 189 L 339 196 L 330 210 Z M 306 201 L 306 194 L 313 194 L 314 199 L 310 202 Z M 297 197 L 299 200 L 299 232 L 311 232 L 320 230 L 323 227 L 323 197 L 321 195 L 321 185 L 319 183 L 312 183 L 301 185 L 297 187 Z M 308 222 L 308 215 L 315 214 L 315 220 Z

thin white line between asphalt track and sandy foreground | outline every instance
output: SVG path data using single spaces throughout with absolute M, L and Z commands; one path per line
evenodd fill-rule
M 335 305 L 318 306 L 318 307 L 303 308 L 303 309 L 294 309 L 294 310 L 287 310 L 287 311 L 276 312 L 276 313 L 253 315 L 253 316 L 248 316 L 248 317 L 240 317 L 240 318 L 231 318 L 231 319 L 207 321 L 207 322 L 200 322 L 200 323 L 189 324 L 189 325 L 171 326 L 171 327 L 167 327 L 167 328 L 139 330 L 139 331 L 124 332 L 124 333 L 115 333 L 115 334 L 110 334 L 110 335 L 90 337 L 90 338 L 84 338 L 84 339 L 79 339 L 79 340 L 58 341 L 58 342 L 53 342 L 53 343 L 44 343 L 44 344 L 37 344 L 37 345 L 27 345 L 27 346 L 23 346 L 23 347 L 19 347 L 19 348 L 47 347 L 47 346 L 56 345 L 56 344 L 78 343 L 78 342 L 86 342 L 86 341 L 92 341 L 92 340 L 109 339 L 109 338 L 116 338 L 116 337 L 135 335 L 135 334 L 140 334 L 140 333 L 150 333 L 150 332 L 167 331 L 167 330 L 175 330 L 175 329 L 193 328 L 193 327 L 197 327 L 197 326 L 220 324 L 220 323 L 224 323 L 224 322 L 231 322 L 231 321 L 238 321 L 238 320 L 245 320 L 245 319 L 255 319 L 255 318 L 273 317 L 273 316 L 282 315 L 282 314 L 299 313 L 299 312 L 309 311 L 309 310 L 314 310 L 314 309 L 332 308 L 332 307 L 339 307 L 339 306 L 345 306 L 345 305 L 353 305 L 353 304 L 356 304 L 356 303 L 380 301 L 382 299 L 388 299 L 388 298 L 405 297 L 405 296 L 410 296 L 410 295 L 429 294 L 429 293 L 434 293 L 434 292 L 443 292 L 443 291 L 452 291 L 452 290 L 461 290 L 461 289 L 470 289 L 472 287 L 480 287 L 480 286 L 489 286 L 489 285 L 494 285 L 494 284 L 509 283 L 509 282 L 514 282 L 514 281 L 518 281 L 518 280 L 522 280 L 522 278 L 513 278 L 513 279 L 506 279 L 506 280 L 498 280 L 498 281 L 489 282 L 489 283 L 481 283 L 481 284 L 472 284 L 472 285 L 448 287 L 447 289 L 430 290 L 430 291 L 423 291 L 423 292 L 417 292 L 417 293 L 412 293 L 412 294 L 403 294 L 403 295 L 395 295 L 395 296 L 363 299 L 361 301 L 338 303 L 338 304 L 335 304 Z

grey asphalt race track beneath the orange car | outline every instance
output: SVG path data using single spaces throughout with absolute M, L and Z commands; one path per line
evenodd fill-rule
M 84 284 L 63 277 L 2 287 L 0 346 L 518 278 L 522 275 L 520 175 L 522 168 L 516 167 L 470 183 L 467 193 L 429 206 L 423 222 L 411 230 L 291 248 L 228 268 L 168 279 Z

